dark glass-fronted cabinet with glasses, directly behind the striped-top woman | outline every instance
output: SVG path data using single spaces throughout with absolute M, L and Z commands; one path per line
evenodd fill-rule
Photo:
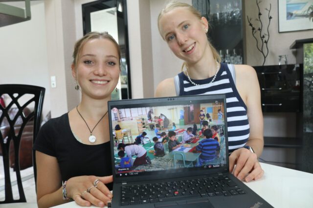
M 192 0 L 192 5 L 209 21 L 208 38 L 222 62 L 245 62 L 242 3 L 242 0 Z

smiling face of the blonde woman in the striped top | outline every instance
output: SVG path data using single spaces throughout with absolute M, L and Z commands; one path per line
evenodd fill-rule
M 187 63 L 196 63 L 209 52 L 207 20 L 200 19 L 186 7 L 164 13 L 158 26 L 162 38 L 173 53 Z

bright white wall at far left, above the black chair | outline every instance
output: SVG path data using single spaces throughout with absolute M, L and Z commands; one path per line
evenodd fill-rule
M 15 2 L 20 7 L 19 2 Z M 50 110 L 44 1 L 31 1 L 31 20 L 0 27 L 0 84 L 45 88 L 43 115 Z

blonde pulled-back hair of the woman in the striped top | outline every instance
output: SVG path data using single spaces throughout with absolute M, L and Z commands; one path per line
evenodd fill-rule
M 172 11 L 173 9 L 175 8 L 179 8 L 179 7 L 184 7 L 186 8 L 187 10 L 189 10 L 192 14 L 194 14 L 197 18 L 201 19 L 201 14 L 200 12 L 193 6 L 191 6 L 190 4 L 187 4 L 187 3 L 183 3 L 183 2 L 179 2 L 179 1 L 176 1 L 176 0 L 172 0 L 170 1 L 169 3 L 166 4 L 166 6 L 161 10 L 161 12 L 159 13 L 158 17 L 157 17 L 157 28 L 158 28 L 158 31 L 160 32 L 160 25 L 159 25 L 159 21 L 161 19 L 161 17 L 169 12 L 169 11 Z M 163 37 L 162 37 L 163 38 Z M 164 39 L 164 38 L 163 38 Z M 219 55 L 219 53 L 217 52 L 217 50 L 213 47 L 213 45 L 210 43 L 209 39 L 208 39 L 208 43 L 209 43 L 209 46 L 211 48 L 211 51 L 212 51 L 212 54 L 213 54 L 213 57 L 215 60 L 217 60 L 218 62 L 221 62 L 221 57 Z M 181 66 L 181 70 L 183 70 L 183 67 L 186 63 L 183 63 L 182 66 Z

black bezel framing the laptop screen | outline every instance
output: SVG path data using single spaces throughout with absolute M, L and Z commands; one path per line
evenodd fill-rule
M 115 173 L 115 161 L 114 161 L 114 139 L 112 134 L 112 113 L 111 110 L 116 106 L 130 106 L 130 105 L 144 105 L 154 103 L 153 106 L 165 106 L 164 103 L 170 102 L 186 102 L 186 101 L 197 101 L 203 100 L 203 103 L 206 103 L 205 100 L 214 100 L 214 99 L 223 99 L 224 100 L 224 136 L 225 136 L 225 153 L 226 153 L 226 165 L 224 167 L 212 168 L 212 169 L 198 169 L 192 170 L 188 169 L 186 171 L 175 171 L 175 172 L 166 172 L 166 174 L 155 174 L 155 175 L 132 175 L 127 177 L 116 177 Z M 163 103 L 162 105 L 155 105 L 156 103 Z M 120 107 L 125 108 L 125 107 Z M 229 158 L 228 158 L 228 133 L 227 133 L 227 112 L 226 112 L 226 97 L 224 94 L 218 95 L 190 95 L 190 96 L 172 96 L 172 97 L 158 97 L 158 98 L 143 98 L 143 99 L 127 99 L 127 100 L 112 100 L 108 102 L 108 111 L 109 111 L 109 129 L 110 129 L 110 148 L 111 148 L 111 162 L 112 162 L 112 175 L 114 183 L 124 183 L 124 182 L 135 182 L 135 181 L 148 181 L 148 180 L 159 180 L 159 179 L 168 179 L 168 178 L 177 178 L 177 177 L 188 177 L 188 176 L 199 176 L 212 173 L 222 173 L 229 172 Z M 186 170 L 186 169 L 176 169 L 176 170 Z M 201 171 L 199 171 L 201 170 Z M 164 170 L 166 171 L 166 170 Z

